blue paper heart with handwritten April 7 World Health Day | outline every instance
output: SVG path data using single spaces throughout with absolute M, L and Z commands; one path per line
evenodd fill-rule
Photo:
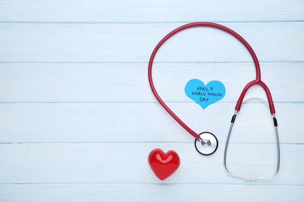
M 220 81 L 210 81 L 207 85 L 199 79 L 189 80 L 185 86 L 185 93 L 203 109 L 217 102 L 225 96 L 225 86 Z

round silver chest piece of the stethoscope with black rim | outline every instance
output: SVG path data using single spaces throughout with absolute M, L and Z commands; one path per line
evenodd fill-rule
M 198 153 L 209 156 L 215 153 L 218 147 L 218 140 L 211 132 L 202 132 L 199 134 L 200 140 L 195 139 L 194 145 Z

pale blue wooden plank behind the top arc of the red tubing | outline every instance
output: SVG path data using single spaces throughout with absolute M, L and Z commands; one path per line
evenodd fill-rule
M 244 37 L 260 62 L 303 62 L 304 22 L 221 23 Z M 183 24 L 0 24 L 2 63 L 147 63 Z M 230 34 L 196 27 L 164 44 L 155 62 L 252 62 Z

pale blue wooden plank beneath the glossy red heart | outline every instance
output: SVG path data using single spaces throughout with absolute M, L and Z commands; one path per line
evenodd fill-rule
M 88 137 L 89 138 L 89 137 Z M 173 149 L 181 159 L 177 172 L 160 181 L 147 156 L 154 148 Z M 0 144 L 0 183 L 202 183 L 303 185 L 303 144 L 281 144 L 280 173 L 272 180 L 247 182 L 223 169 L 224 144 L 202 156 L 193 143 Z M 262 158 L 261 158 L 262 157 Z M 227 167 L 235 173 L 272 175 L 275 144 L 230 144 Z

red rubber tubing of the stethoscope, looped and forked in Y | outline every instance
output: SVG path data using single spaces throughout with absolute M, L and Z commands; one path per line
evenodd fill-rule
M 225 31 L 231 35 L 233 35 L 234 37 L 236 37 L 239 41 L 241 41 L 245 47 L 248 49 L 252 59 L 253 59 L 253 62 L 254 62 L 254 65 L 255 65 L 255 71 L 256 71 L 256 79 L 249 82 L 245 88 L 243 89 L 239 99 L 238 99 L 238 102 L 237 102 L 237 105 L 235 107 L 235 110 L 236 111 L 239 111 L 240 108 L 241 108 L 241 105 L 242 105 L 242 102 L 243 102 L 243 99 L 244 99 L 244 96 L 247 92 L 247 90 L 253 86 L 253 85 L 260 85 L 266 92 L 267 94 L 267 98 L 268 98 L 268 102 L 269 102 L 269 106 L 270 106 L 270 111 L 271 111 L 271 114 L 275 114 L 275 106 L 274 106 L 274 103 L 273 103 L 273 99 L 272 99 L 272 96 L 271 96 L 271 93 L 270 93 L 270 90 L 269 88 L 267 87 L 267 85 L 262 82 L 261 80 L 261 71 L 260 71 L 260 67 L 259 67 L 259 63 L 258 63 L 258 60 L 257 60 L 257 57 L 252 49 L 252 47 L 249 45 L 249 43 L 242 37 L 240 36 L 238 33 L 236 33 L 235 31 L 225 27 L 225 26 L 222 26 L 222 25 L 219 25 L 219 24 L 216 24 L 216 23 L 210 23 L 210 22 L 195 22 L 195 23 L 189 23 L 189 24 L 185 24 L 185 25 L 182 25 L 176 29 L 174 29 L 173 31 L 171 31 L 169 34 L 167 34 L 158 44 L 157 46 L 155 47 L 151 57 L 150 57 L 150 60 L 149 60 L 149 66 L 148 66 L 148 78 L 149 78 L 149 84 L 150 84 L 150 87 L 151 87 L 151 90 L 153 92 L 153 94 L 155 95 L 155 97 L 157 98 L 158 102 L 161 104 L 161 106 L 173 117 L 173 119 L 179 123 L 179 125 L 181 125 L 186 131 L 188 131 L 191 135 L 193 135 L 196 139 L 200 139 L 200 136 L 194 132 L 191 128 L 189 128 L 185 123 L 183 123 L 169 108 L 168 106 L 163 102 L 163 100 L 161 99 L 161 97 L 158 95 L 155 87 L 154 87 L 154 84 L 153 84 L 153 80 L 152 80 L 152 65 L 153 65 L 153 60 L 156 56 L 156 53 L 158 51 L 158 49 L 162 46 L 162 44 L 168 40 L 171 36 L 173 36 L 174 34 L 176 34 L 177 32 L 179 31 L 182 31 L 184 29 L 187 29 L 187 28 L 191 28 L 191 27 L 199 27 L 199 26 L 203 26 L 203 27 L 213 27 L 213 28 L 217 28 L 217 29 L 220 29 L 222 31 Z

